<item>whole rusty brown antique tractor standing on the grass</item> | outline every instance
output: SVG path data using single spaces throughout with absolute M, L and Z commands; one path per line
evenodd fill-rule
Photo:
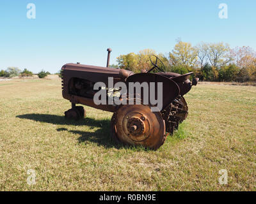
M 108 48 L 107 66 L 89 66 L 77 62 L 77 64 L 65 64 L 61 68 L 62 94 L 63 98 L 72 103 L 72 108 L 65 112 L 68 119 L 82 119 L 86 112 L 83 106 L 91 106 L 100 110 L 113 112 L 111 118 L 111 135 L 116 142 L 127 145 L 142 145 L 149 149 L 158 149 L 163 145 L 168 133 L 173 134 L 178 129 L 179 124 L 188 116 L 188 105 L 184 95 L 191 90 L 193 85 L 198 83 L 198 78 L 191 82 L 189 77 L 193 74 L 166 72 L 163 62 L 155 55 L 150 56 L 152 68 L 144 70 L 142 73 L 133 73 L 126 69 L 109 68 L 109 56 L 111 48 Z M 109 87 L 108 79 L 113 78 L 113 83 L 124 82 L 129 87 L 129 83 L 146 82 L 163 83 L 163 106 L 161 110 L 152 112 L 151 103 L 145 104 L 150 98 L 150 92 L 146 96 L 139 94 L 127 94 L 125 100 L 132 103 L 116 105 L 108 103 L 113 101 L 111 97 L 115 96 L 120 89 Z M 99 91 L 93 89 L 97 82 L 103 82 L 107 92 L 106 103 L 96 104 L 93 96 Z M 145 84 L 145 83 L 144 83 Z M 132 88 L 135 89 L 135 88 Z M 134 90 L 132 90 L 134 92 Z M 155 89 L 157 92 L 157 89 Z M 131 90 L 127 89 L 127 93 Z M 157 94 L 155 93 L 154 96 Z M 148 97 L 145 99 L 145 97 Z M 119 98 L 122 100 L 123 98 Z M 140 103 L 137 103 L 137 102 Z

